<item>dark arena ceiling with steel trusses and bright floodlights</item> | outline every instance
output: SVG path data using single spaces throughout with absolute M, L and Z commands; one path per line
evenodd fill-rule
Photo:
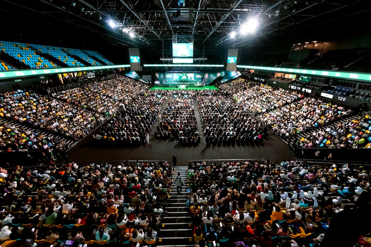
M 100 43 L 139 48 L 264 46 L 369 23 L 369 0 L 0 0 L 1 13 L 43 20 Z M 258 27 L 242 34 L 250 19 Z M 110 21 L 113 23 L 110 23 Z M 114 26 L 114 27 L 112 27 Z M 42 28 L 42 23 L 35 28 Z M 349 31 L 350 29 L 350 31 Z M 235 32 L 235 33 L 234 33 Z M 231 35 L 232 34 L 232 35 Z M 233 37 L 235 34 L 235 37 Z M 50 34 L 49 34 L 50 35 Z M 231 37 L 232 36 L 232 37 Z M 310 41 L 310 40 L 308 40 Z

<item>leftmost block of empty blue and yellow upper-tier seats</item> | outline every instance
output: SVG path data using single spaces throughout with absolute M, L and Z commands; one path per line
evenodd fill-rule
M 26 64 L 31 69 L 58 67 L 53 62 L 37 55 L 29 44 L 0 41 L 0 49 L 9 56 Z

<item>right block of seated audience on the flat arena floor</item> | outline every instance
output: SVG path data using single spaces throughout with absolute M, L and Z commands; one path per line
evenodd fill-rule
M 263 141 L 266 128 L 224 91 L 207 91 L 197 96 L 197 102 L 207 146 L 245 146 Z

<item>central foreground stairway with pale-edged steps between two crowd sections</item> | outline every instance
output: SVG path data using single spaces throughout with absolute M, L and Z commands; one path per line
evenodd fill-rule
M 174 186 L 174 177 L 177 176 L 178 172 L 180 172 L 184 182 L 180 196 L 177 195 L 177 187 Z M 185 202 L 188 199 L 186 189 L 189 186 L 187 175 L 186 166 L 174 167 L 173 185 L 170 187 L 170 198 L 166 207 L 167 217 L 162 219 L 157 247 L 193 247 L 191 218 L 187 216 L 188 208 L 185 207 Z

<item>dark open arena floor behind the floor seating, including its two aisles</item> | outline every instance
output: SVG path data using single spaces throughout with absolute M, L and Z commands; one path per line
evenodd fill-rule
M 167 101 L 166 101 L 167 102 Z M 165 102 L 165 104 L 166 104 Z M 164 104 L 164 105 L 165 105 Z M 162 107 L 162 110 L 164 107 Z M 197 104 L 195 103 L 195 109 Z M 200 117 L 196 110 L 198 131 L 201 131 Z M 140 147 L 107 147 L 94 143 L 92 135 L 87 136 L 78 145 L 68 152 L 69 161 L 78 162 L 80 165 L 92 161 L 118 161 L 118 160 L 168 160 L 171 161 L 173 154 L 178 158 L 177 166 L 185 166 L 188 160 L 216 160 L 216 159 L 255 159 L 268 158 L 270 162 L 278 162 L 295 158 L 293 152 L 273 133 L 268 132 L 267 140 L 259 146 L 229 146 L 229 147 L 206 147 L 205 137 L 201 134 L 201 143 L 197 146 L 184 147 L 174 140 L 156 143 L 153 130 L 158 126 L 158 121 L 150 133 L 150 144 Z

